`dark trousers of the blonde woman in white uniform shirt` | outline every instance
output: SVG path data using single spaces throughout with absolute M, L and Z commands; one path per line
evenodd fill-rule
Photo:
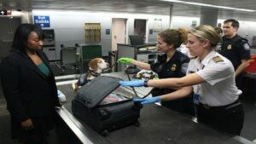
M 199 123 L 210 125 L 230 135 L 240 135 L 244 120 L 244 110 L 240 102 L 236 101 L 224 107 L 207 107 L 196 105 Z

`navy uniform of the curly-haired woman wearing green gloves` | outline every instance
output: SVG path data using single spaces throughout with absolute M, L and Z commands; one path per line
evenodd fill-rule
M 159 78 L 182 78 L 186 75 L 189 66 L 189 57 L 183 53 L 176 51 L 172 58 L 166 61 L 167 55 L 158 55 L 158 60 L 150 65 L 151 70 L 156 72 Z M 160 89 L 152 90 L 153 96 L 165 95 L 172 93 L 175 89 Z M 169 107 L 177 112 L 186 112 L 194 115 L 192 106 L 192 98 L 185 97 L 174 101 L 162 101 L 161 105 Z

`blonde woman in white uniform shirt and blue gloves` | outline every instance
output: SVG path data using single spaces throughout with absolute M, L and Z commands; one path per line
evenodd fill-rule
M 235 84 L 235 70 L 230 60 L 214 51 L 220 36 L 212 26 L 198 26 L 190 30 L 187 47 L 191 55 L 187 75 L 183 78 L 159 80 L 120 81 L 123 86 L 151 86 L 180 88 L 171 94 L 135 99 L 142 104 L 171 101 L 191 94 L 194 89 L 197 120 L 216 130 L 239 135 L 244 112 L 238 96 L 241 90 Z

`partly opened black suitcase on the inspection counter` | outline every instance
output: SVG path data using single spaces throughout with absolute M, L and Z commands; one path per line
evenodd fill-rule
M 132 101 L 132 96 L 119 87 L 119 79 L 96 77 L 79 89 L 72 101 L 72 112 L 101 135 L 108 135 L 108 131 L 139 125 L 143 105 Z

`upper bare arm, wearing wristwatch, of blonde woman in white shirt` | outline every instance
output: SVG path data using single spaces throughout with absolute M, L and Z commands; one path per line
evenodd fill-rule
M 195 72 L 183 78 L 164 78 L 158 80 L 149 80 L 148 86 L 158 88 L 181 88 L 195 84 L 201 84 L 204 82 L 205 80 Z

